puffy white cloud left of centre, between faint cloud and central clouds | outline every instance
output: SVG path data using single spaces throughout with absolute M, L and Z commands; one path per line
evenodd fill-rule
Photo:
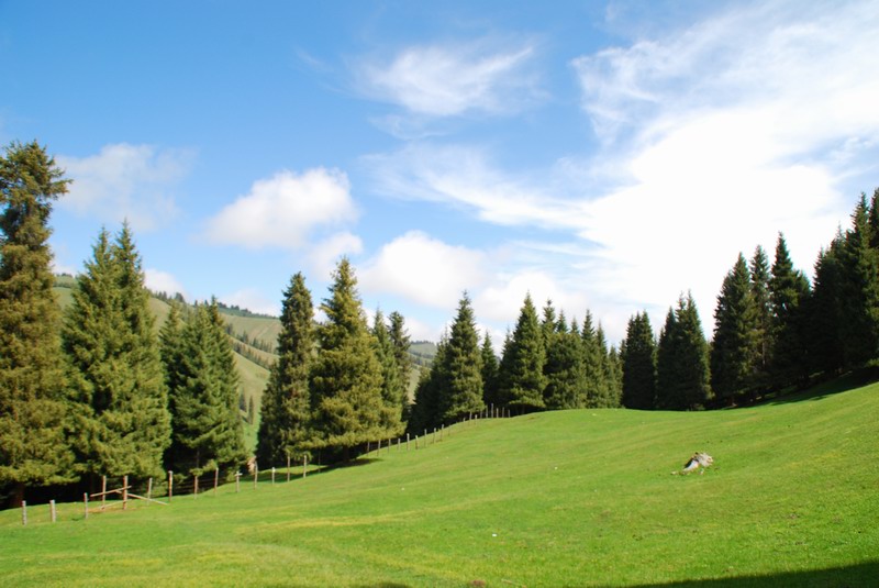
M 318 226 L 357 219 L 347 176 L 337 169 L 280 171 L 254 182 L 251 191 L 208 221 L 205 235 L 220 244 L 247 248 L 297 249 Z

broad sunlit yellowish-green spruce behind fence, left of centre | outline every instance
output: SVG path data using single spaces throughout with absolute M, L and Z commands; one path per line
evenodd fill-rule
M 326 322 L 318 328 L 320 352 L 312 364 L 315 448 L 340 448 L 343 459 L 360 444 L 386 439 L 381 411 L 381 365 L 364 317 L 351 262 L 342 258 L 321 303 Z

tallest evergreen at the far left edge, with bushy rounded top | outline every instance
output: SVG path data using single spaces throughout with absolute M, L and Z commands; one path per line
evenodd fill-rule
M 36 142 L 0 157 L 0 486 L 69 481 L 60 314 L 48 218 L 68 180 Z

